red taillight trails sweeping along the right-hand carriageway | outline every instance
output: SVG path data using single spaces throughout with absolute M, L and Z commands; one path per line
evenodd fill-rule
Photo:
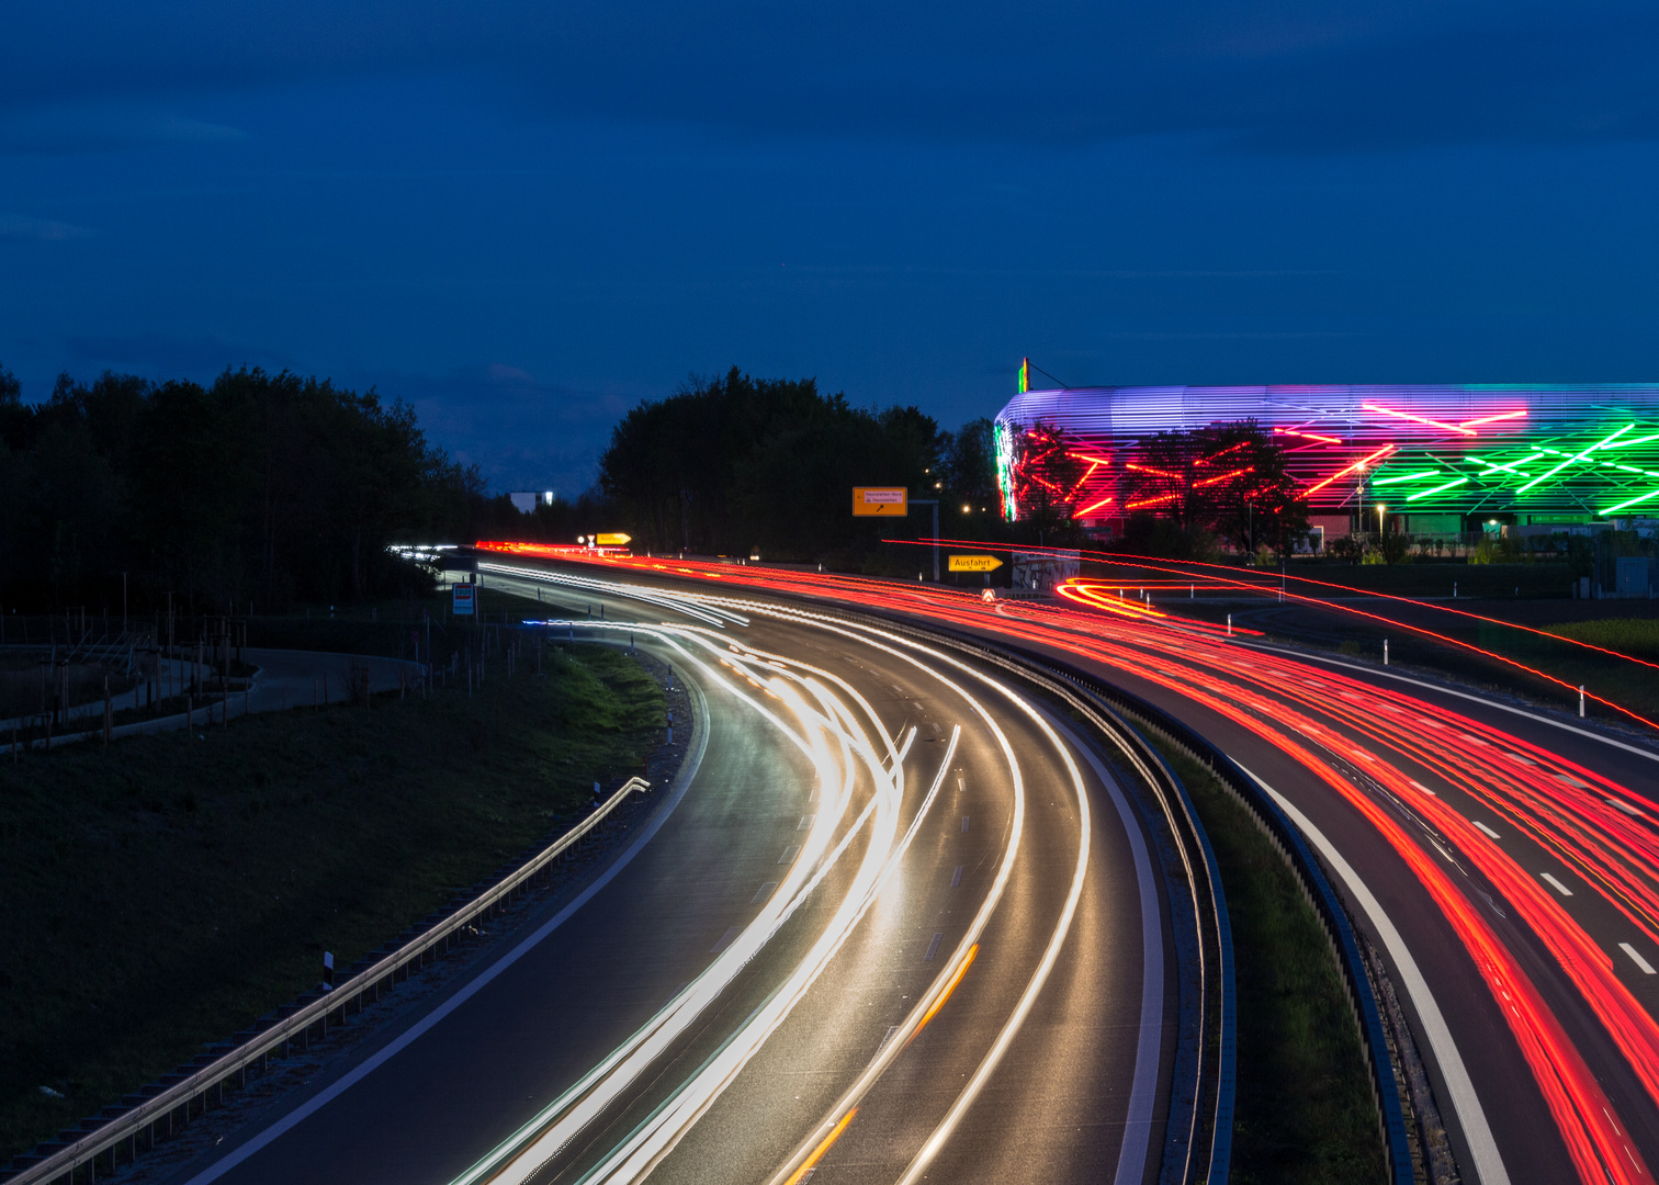
M 1647 820 L 1632 818 L 1627 813 L 1632 795 L 1618 783 L 1460 712 L 1294 659 L 1239 649 L 1214 626 L 1173 617 L 1121 592 L 1112 596 L 1121 586 L 1098 579 L 1072 581 L 1058 589 L 1062 597 L 1078 606 L 1075 609 L 1032 602 L 987 606 L 967 592 L 864 578 L 758 568 L 712 571 L 713 566 L 702 563 L 592 553 L 572 556 L 567 549 L 538 544 L 479 546 L 579 559 L 620 573 L 662 571 L 722 579 L 727 589 L 753 586 L 874 609 L 893 609 L 894 601 L 902 599 L 941 622 L 1063 649 L 1216 712 L 1319 778 L 1405 860 L 1473 959 L 1581 1180 L 1631 1185 L 1651 1180 L 1616 1119 L 1618 1109 L 1516 954 L 1486 921 L 1480 903 L 1472 901 L 1462 881 L 1447 873 L 1430 846 L 1385 807 L 1384 797 L 1344 775 L 1331 758 L 1362 770 L 1387 797 L 1408 807 L 1503 896 L 1518 921 L 1554 956 L 1564 981 L 1583 997 L 1631 1066 L 1647 1100 L 1659 1104 L 1659 1024 L 1619 979 L 1606 951 L 1538 885 L 1531 871 L 1477 830 L 1442 793 L 1412 780 L 1399 765 L 1415 762 L 1443 778 L 1450 790 L 1467 795 L 1490 810 L 1495 820 L 1556 856 L 1639 933 L 1659 941 L 1659 836 L 1646 825 L 1652 805 L 1642 802 L 1634 807 Z M 1166 571 L 1190 574 L 1173 568 Z M 1254 583 L 1214 576 L 1208 578 L 1208 584 L 1264 591 Z M 1375 614 L 1362 616 L 1387 621 Z M 1432 631 L 1418 632 L 1443 637 Z M 1443 641 L 1458 644 L 1455 639 Z M 1430 744 L 1423 744 L 1425 739 Z M 1624 802 L 1627 810 L 1619 810 L 1609 798 Z

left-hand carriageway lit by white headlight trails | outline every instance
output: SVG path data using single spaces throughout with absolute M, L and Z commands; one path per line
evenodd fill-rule
M 173 1182 L 1156 1175 L 1168 901 L 1070 724 L 879 629 L 529 579 L 674 666 L 693 758 L 582 898 Z

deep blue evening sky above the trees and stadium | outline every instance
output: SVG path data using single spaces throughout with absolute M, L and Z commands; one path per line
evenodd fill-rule
M 292 368 L 577 493 L 688 373 L 1659 380 L 1659 5 L 63 2 L 0 363 Z

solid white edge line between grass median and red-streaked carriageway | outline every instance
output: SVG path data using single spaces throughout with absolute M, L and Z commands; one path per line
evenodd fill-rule
M 1236 758 L 1234 758 L 1236 760 Z M 1243 765 L 1239 765 L 1244 770 Z M 1422 969 L 1417 966 L 1417 959 L 1412 958 L 1412 951 L 1405 946 L 1405 939 L 1400 931 L 1395 929 L 1394 921 L 1390 921 L 1387 911 L 1382 908 L 1382 901 L 1372 895 L 1360 880 L 1354 866 L 1342 858 L 1337 846 L 1326 838 L 1326 833 L 1314 827 L 1314 822 L 1307 818 L 1296 805 L 1286 798 L 1282 793 L 1274 790 L 1271 785 L 1262 782 L 1259 777 L 1249 773 L 1262 790 L 1266 790 L 1276 803 L 1291 817 L 1291 822 L 1301 828 L 1307 841 L 1319 848 L 1319 855 L 1326 858 L 1326 863 L 1342 878 L 1347 885 L 1349 893 L 1359 901 L 1365 916 L 1370 918 L 1370 924 L 1375 928 L 1377 936 L 1382 944 L 1389 948 L 1389 958 L 1394 959 L 1395 969 L 1400 973 L 1400 981 L 1405 986 L 1405 994 L 1412 997 L 1412 1006 L 1417 1009 L 1417 1019 L 1423 1026 L 1423 1032 L 1428 1036 L 1428 1046 L 1433 1049 L 1435 1062 L 1440 1066 L 1440 1075 L 1445 1079 L 1448 1102 L 1452 1110 L 1458 1117 L 1458 1124 L 1463 1127 L 1463 1139 L 1468 1142 L 1468 1153 L 1475 1158 L 1470 1165 L 1475 1173 L 1475 1180 L 1481 1185 L 1510 1185 L 1510 1173 L 1503 1167 L 1503 1157 L 1498 1153 L 1498 1142 L 1491 1135 L 1491 1127 L 1486 1124 L 1486 1112 L 1480 1105 L 1480 1097 L 1475 1094 L 1475 1084 L 1468 1077 L 1468 1067 L 1463 1066 L 1463 1056 L 1458 1052 L 1457 1041 L 1452 1037 L 1452 1027 L 1447 1024 L 1445 1016 L 1440 1012 L 1440 1004 L 1435 1001 L 1435 994 L 1428 989 L 1428 981 L 1423 979 Z

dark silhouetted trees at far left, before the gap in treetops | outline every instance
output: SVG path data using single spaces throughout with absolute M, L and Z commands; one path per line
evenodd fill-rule
M 572 508 L 524 523 L 415 412 L 330 382 L 226 370 L 211 385 L 61 377 L 23 403 L 0 368 L 5 611 L 284 611 L 413 592 L 400 541 L 501 529 L 562 536 Z

